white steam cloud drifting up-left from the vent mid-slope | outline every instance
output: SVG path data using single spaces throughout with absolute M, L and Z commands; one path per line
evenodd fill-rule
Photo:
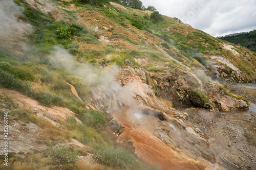
M 138 102 L 134 99 L 136 95 L 132 92 L 131 87 L 129 85 L 121 86 L 115 81 L 118 73 L 116 65 L 100 69 L 90 63 L 82 64 L 59 46 L 54 47 L 49 60 L 54 68 L 83 78 L 92 88 L 93 96 L 91 98 L 95 104 L 99 104 L 101 109 L 108 108 L 106 112 L 113 112 L 119 109 L 120 105 L 133 108 L 138 106 Z

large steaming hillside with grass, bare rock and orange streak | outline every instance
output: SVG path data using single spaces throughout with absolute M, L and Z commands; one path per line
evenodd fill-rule
M 10 138 L 0 169 L 254 167 L 255 118 L 226 112 L 255 104 L 228 87 L 255 82 L 255 53 L 118 1 L 0 7 L 0 111 Z M 184 112 L 192 107 L 205 110 Z M 248 150 L 226 148 L 229 120 L 241 122 Z M 211 127 L 226 134 L 220 149 Z

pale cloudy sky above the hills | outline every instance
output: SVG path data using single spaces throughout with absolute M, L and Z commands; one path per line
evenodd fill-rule
M 255 0 L 140 0 L 160 14 L 177 17 L 211 36 L 256 29 Z

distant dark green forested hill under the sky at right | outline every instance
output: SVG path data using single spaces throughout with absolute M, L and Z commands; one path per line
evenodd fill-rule
M 256 53 L 256 30 L 250 31 L 250 32 L 242 32 L 242 33 L 235 33 L 235 34 L 229 34 L 222 37 L 217 37 L 222 40 L 234 43 L 234 44 L 240 44 L 242 46 L 247 47 L 252 52 Z

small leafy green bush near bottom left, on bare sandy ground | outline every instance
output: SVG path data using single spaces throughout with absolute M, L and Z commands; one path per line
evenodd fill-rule
M 75 163 L 77 160 L 77 153 L 78 150 L 71 152 L 69 149 L 65 148 L 65 145 L 58 145 L 56 149 L 53 149 L 52 143 L 46 151 L 48 158 L 51 158 L 54 164 Z

